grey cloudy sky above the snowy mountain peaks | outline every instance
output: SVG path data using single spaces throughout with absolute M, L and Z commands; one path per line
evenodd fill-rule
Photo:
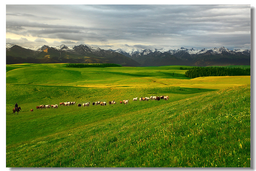
M 6 43 L 250 49 L 250 5 L 6 5 Z

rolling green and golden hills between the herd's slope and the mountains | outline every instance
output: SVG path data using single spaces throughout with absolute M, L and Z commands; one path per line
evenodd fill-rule
M 181 66 L 108 68 L 65 66 L 66 64 L 6 65 L 6 83 L 102 88 L 178 86 L 207 89 L 250 84 L 250 76 L 189 79 L 185 76 L 186 70 L 179 70 Z

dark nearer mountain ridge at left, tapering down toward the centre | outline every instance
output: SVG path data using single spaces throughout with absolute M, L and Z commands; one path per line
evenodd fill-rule
M 26 49 L 17 45 L 6 49 L 6 64 L 21 63 L 115 63 L 122 66 L 141 66 L 135 60 L 117 52 L 97 49 L 92 51 L 88 46 L 75 46 L 73 50 L 59 50 L 54 47 L 42 46 L 38 51 Z

